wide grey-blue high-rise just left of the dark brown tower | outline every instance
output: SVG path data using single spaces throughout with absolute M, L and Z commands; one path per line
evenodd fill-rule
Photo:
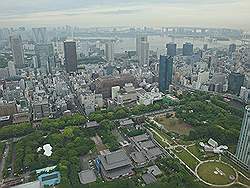
M 42 73 L 49 72 L 49 58 L 53 56 L 52 44 L 37 44 L 35 53 L 38 60 L 38 68 Z

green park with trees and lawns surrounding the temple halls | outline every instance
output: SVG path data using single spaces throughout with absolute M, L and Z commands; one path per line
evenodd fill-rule
M 80 158 L 96 156 L 103 148 L 110 151 L 119 149 L 118 136 L 114 134 L 118 127 L 117 120 L 137 116 L 140 119 L 138 124 L 143 119 L 145 130 L 129 132 L 124 129 L 122 132 L 136 136 L 148 131 L 170 153 L 170 157 L 155 161 L 163 175 L 156 183 L 144 187 L 249 187 L 249 173 L 231 162 L 226 155 L 205 152 L 199 145 L 199 142 L 213 138 L 220 144 L 228 145 L 230 152 L 234 153 L 243 110 L 224 102 L 220 96 L 206 93 L 185 93 L 179 99 L 178 104 L 160 101 L 149 106 L 98 110 L 89 116 L 75 114 L 59 119 L 43 119 L 35 125 L 2 127 L 0 139 L 7 142 L 1 142 L 0 156 L 4 144 L 9 146 L 3 176 L 21 177 L 28 173 L 30 180 L 34 180 L 36 169 L 57 165 L 61 173 L 61 184 L 57 188 L 141 187 L 140 175 L 144 169 L 136 169 L 131 179 L 122 178 L 112 182 L 103 182 L 98 177 L 95 183 L 81 185 L 78 178 Z M 143 116 L 144 113 L 166 109 L 169 105 L 174 109 L 171 114 Z M 84 128 L 87 121 L 98 122 L 100 128 Z M 102 139 L 99 145 L 93 141 L 96 136 Z M 14 140 L 14 137 L 19 139 Z M 53 148 L 50 157 L 37 150 L 48 143 Z

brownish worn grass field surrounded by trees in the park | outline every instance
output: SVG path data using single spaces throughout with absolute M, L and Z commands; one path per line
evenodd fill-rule
M 166 118 L 165 116 L 157 116 L 154 119 L 162 124 L 168 131 L 178 133 L 180 135 L 189 135 L 192 127 L 177 118 Z

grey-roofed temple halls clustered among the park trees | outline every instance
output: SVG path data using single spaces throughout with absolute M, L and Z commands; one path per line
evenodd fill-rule
M 121 127 L 134 130 L 135 123 L 131 119 L 122 119 L 119 121 Z M 138 127 L 138 129 L 140 129 Z M 121 177 L 132 176 L 135 174 L 134 170 L 136 168 L 142 168 L 147 166 L 150 162 L 154 162 L 156 159 L 166 155 L 164 150 L 158 146 L 158 144 L 153 140 L 152 135 L 149 133 L 144 133 L 141 135 L 133 137 L 124 137 L 119 150 L 101 151 L 96 159 L 96 167 L 98 172 L 108 181 L 114 180 Z M 153 169 L 158 169 L 157 166 L 151 167 Z M 149 176 L 155 176 L 159 174 L 153 174 L 151 172 L 156 172 L 154 170 L 148 170 L 150 173 L 146 173 L 145 183 L 147 182 L 148 174 Z M 155 176 L 154 176 L 155 175 Z M 143 178 L 143 177 L 142 177 Z M 144 178 L 143 178 L 144 179 Z

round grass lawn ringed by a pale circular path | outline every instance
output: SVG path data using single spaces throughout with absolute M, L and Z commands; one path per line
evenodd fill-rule
M 215 174 L 215 171 L 218 168 L 223 172 L 223 175 L 220 173 Z M 199 166 L 198 168 L 198 175 L 201 179 L 208 183 L 216 184 L 216 185 L 226 185 L 232 182 L 232 180 L 229 179 L 230 175 L 233 175 L 236 177 L 236 174 L 234 170 L 221 162 L 206 162 Z

